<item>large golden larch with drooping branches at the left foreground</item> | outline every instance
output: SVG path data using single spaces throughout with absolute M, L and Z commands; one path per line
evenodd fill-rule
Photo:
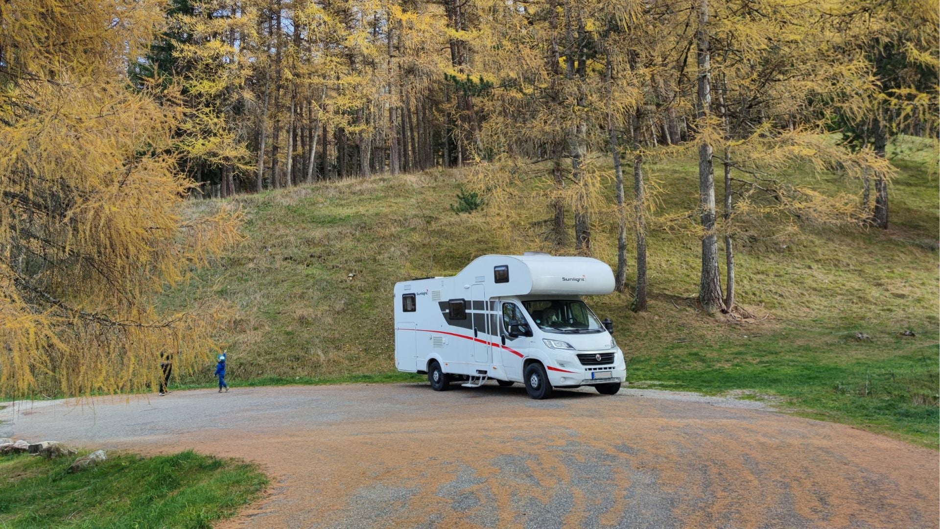
M 0 394 L 133 392 L 208 361 L 215 314 L 153 295 L 236 238 L 183 221 L 178 97 L 129 89 L 164 27 L 159 2 L 0 9 Z M 75 42 L 84 42 L 75 45 Z

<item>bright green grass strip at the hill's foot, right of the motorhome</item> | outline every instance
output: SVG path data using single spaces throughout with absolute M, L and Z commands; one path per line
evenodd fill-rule
M 916 338 L 786 329 L 765 336 L 671 345 L 636 355 L 635 387 L 771 400 L 800 415 L 864 427 L 936 449 L 937 333 Z M 780 398 L 766 399 L 761 395 Z

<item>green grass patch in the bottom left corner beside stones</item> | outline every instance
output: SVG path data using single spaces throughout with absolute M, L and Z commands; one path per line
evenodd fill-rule
M 77 473 L 71 457 L 0 457 L 0 527 L 208 528 L 267 485 L 253 466 L 192 451 L 130 454 Z

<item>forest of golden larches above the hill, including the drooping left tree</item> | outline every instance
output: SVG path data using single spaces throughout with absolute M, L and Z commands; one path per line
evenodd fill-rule
M 635 312 L 650 230 L 682 232 L 697 307 L 752 318 L 739 241 L 888 230 L 898 138 L 927 138 L 935 174 L 938 22 L 926 0 L 5 3 L 0 394 L 139 391 L 161 359 L 205 362 L 227 307 L 154 300 L 237 244 L 243 212 L 182 203 L 377 174 L 462 170 L 442 202 L 606 259 Z M 650 174 L 690 156 L 697 185 Z M 697 205 L 663 212 L 666 193 Z

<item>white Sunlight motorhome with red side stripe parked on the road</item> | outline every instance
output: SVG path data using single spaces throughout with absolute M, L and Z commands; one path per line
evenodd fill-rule
M 627 368 L 612 335 L 581 296 L 614 291 L 610 266 L 544 253 L 484 255 L 450 278 L 395 284 L 395 366 L 478 387 L 525 384 L 529 396 L 594 386 L 613 394 Z

